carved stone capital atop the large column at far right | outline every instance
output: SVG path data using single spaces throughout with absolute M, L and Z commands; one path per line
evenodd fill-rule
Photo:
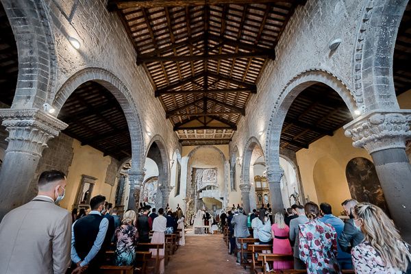
M 345 136 L 353 139 L 353 147 L 362 147 L 370 154 L 383 149 L 406 148 L 411 138 L 411 110 L 372 110 L 344 126 Z

